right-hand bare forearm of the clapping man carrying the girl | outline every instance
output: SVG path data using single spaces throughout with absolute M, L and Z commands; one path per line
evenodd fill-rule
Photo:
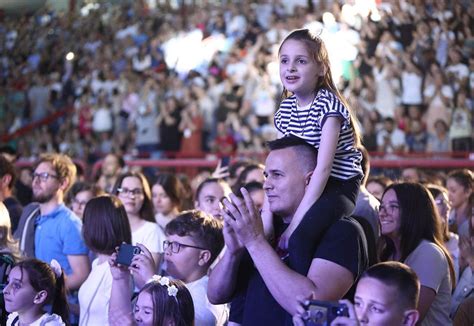
M 247 249 L 272 296 L 294 315 L 298 307 L 296 297 L 311 295 L 316 291 L 315 284 L 288 268 L 263 236 L 248 244 Z

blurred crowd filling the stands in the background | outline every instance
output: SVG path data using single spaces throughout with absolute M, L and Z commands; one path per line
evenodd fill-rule
M 334 3 L 326 13 L 274 1 L 144 3 L 3 17 L 0 134 L 69 109 L 11 140 L 23 158 L 260 152 L 275 136 L 278 45 L 305 26 L 326 40 L 370 152 L 472 150 L 468 2 Z M 210 54 L 183 70 L 203 48 Z

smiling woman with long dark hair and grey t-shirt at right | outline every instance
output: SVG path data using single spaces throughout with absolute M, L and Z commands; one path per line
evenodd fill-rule
M 388 186 L 382 196 L 379 220 L 380 260 L 405 263 L 420 279 L 420 325 L 452 325 L 453 262 L 444 247 L 440 217 L 429 191 L 417 183 Z

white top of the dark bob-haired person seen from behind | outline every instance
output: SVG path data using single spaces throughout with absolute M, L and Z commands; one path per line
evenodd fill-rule
M 109 303 L 112 291 L 112 274 L 107 261 L 92 262 L 92 270 L 79 289 L 81 314 L 79 325 L 109 325 Z

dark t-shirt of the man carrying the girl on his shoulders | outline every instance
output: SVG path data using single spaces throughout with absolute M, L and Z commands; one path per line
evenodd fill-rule
M 357 279 L 367 268 L 367 248 L 360 225 L 351 218 L 335 222 L 323 236 L 314 258 L 334 262 Z M 328 281 L 330 280 L 328 275 Z M 242 318 L 242 325 L 293 325 L 292 317 L 276 302 L 262 277 L 254 268 L 250 274 Z

